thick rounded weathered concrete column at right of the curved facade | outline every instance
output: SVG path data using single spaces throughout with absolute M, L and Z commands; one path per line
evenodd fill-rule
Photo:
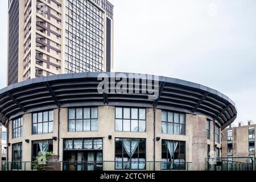
M 193 122 L 192 170 L 195 171 L 205 169 L 205 158 L 207 157 L 206 121 L 207 118 L 201 115 L 195 115 L 191 118 L 191 122 Z

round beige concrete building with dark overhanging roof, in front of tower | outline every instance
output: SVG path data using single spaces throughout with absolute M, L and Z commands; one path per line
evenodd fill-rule
M 152 75 L 75 73 L 0 90 L 14 169 L 53 151 L 63 170 L 203 170 L 236 115 L 217 90 Z

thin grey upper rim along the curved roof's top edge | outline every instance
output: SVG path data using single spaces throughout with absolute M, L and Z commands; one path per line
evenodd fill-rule
M 159 82 L 165 82 L 167 84 L 175 84 L 181 87 L 185 87 L 188 89 L 196 89 L 199 90 L 200 92 L 206 92 L 211 94 L 214 97 L 218 97 L 220 98 L 221 101 L 227 102 L 229 103 L 232 107 L 233 110 L 233 117 L 230 117 L 230 119 L 228 119 L 227 122 L 224 123 L 223 126 L 228 126 L 230 125 L 230 123 L 232 123 L 234 121 L 234 119 L 236 119 L 236 115 L 237 115 L 237 107 L 236 104 L 225 94 L 222 94 L 221 92 L 218 92 L 217 90 L 214 90 L 212 88 L 209 88 L 207 86 L 201 85 L 201 84 L 197 84 L 195 82 L 190 82 L 190 81 L 185 81 L 185 80 L 180 80 L 178 78 L 171 78 L 171 77 L 164 77 L 164 76 L 155 76 L 155 75 L 147 75 L 147 74 L 142 74 L 142 73 L 125 73 L 125 72 L 102 72 L 102 73 L 98 73 L 98 72 L 87 72 L 87 73 L 71 73 L 71 74 L 63 74 L 63 75 L 53 75 L 53 76 L 46 76 L 46 77 L 39 77 L 39 78 L 34 78 L 32 80 L 26 80 L 26 81 L 22 81 L 22 82 L 18 82 L 15 83 L 13 85 L 9 85 L 6 88 L 3 88 L 0 90 L 0 100 L 1 97 L 6 94 L 6 93 L 11 93 L 13 92 L 13 90 L 22 90 L 23 87 L 26 86 L 32 86 L 34 84 L 42 84 L 43 82 L 52 82 L 52 81 L 65 81 L 65 80 L 73 80 L 73 79 L 82 79 L 82 78 L 97 78 L 99 74 L 105 74 L 108 75 L 108 77 L 115 77 L 117 75 L 125 75 L 127 78 L 134 78 L 134 75 L 141 75 L 141 76 L 146 76 L 146 77 L 151 77 L 152 80 L 158 80 Z M 165 89 L 165 88 L 164 88 Z M 9 96 L 11 98 L 11 96 Z M 15 101 L 14 101 L 15 102 Z M 164 102 L 164 101 L 163 101 Z M 17 103 L 15 103 L 17 104 Z M 226 108 L 223 108 L 225 110 L 221 111 L 219 114 L 222 115 L 225 112 L 227 112 L 228 105 L 226 105 Z M 5 114 L 2 113 L 2 111 L 5 108 L 1 108 L 0 110 L 0 119 L 2 121 L 2 117 L 5 117 Z M 2 116 L 3 115 L 3 116 Z M 229 116 L 228 116 L 229 117 Z M 5 118 L 4 120 L 6 120 L 7 118 Z M 4 123 L 4 122 L 2 122 Z

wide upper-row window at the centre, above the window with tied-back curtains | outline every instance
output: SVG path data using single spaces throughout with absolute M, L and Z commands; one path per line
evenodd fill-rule
M 115 131 L 146 132 L 146 109 L 115 107 Z

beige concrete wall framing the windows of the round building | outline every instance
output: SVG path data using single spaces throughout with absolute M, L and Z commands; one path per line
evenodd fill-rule
M 11 146 L 9 147 L 9 161 L 11 161 L 12 144 L 22 142 L 23 147 L 23 162 L 31 161 L 32 141 L 52 139 L 57 137 L 58 133 L 58 110 L 54 110 L 53 115 L 53 133 L 44 135 L 32 135 L 32 114 L 23 115 L 23 137 L 13 139 L 12 124 L 9 125 L 9 138 Z M 115 131 L 115 107 L 114 106 L 100 106 L 98 107 L 98 131 L 94 132 L 68 132 L 68 109 L 60 109 L 60 142 L 59 142 L 59 160 L 63 160 L 63 140 L 67 138 L 103 138 L 104 161 L 115 160 L 115 138 L 144 138 L 146 139 L 146 160 L 148 162 L 154 161 L 154 109 L 146 109 L 146 133 L 134 132 L 117 132 Z M 207 144 L 211 144 L 213 150 L 213 122 L 210 125 L 210 140 L 207 140 L 206 121 L 207 118 L 202 115 L 186 114 L 186 129 L 185 135 L 171 135 L 162 134 L 161 125 L 162 111 L 155 110 L 156 118 L 156 136 L 160 137 L 159 141 L 155 142 L 155 161 L 162 161 L 162 139 L 164 140 L 179 140 L 186 142 L 186 162 L 189 164 L 190 170 L 204 170 L 205 158 L 207 157 Z M 108 136 L 112 135 L 112 139 Z M 29 143 L 25 139 L 30 139 Z M 58 142 L 53 140 L 53 152 L 57 155 Z M 147 169 L 153 169 L 152 164 L 147 164 Z M 150 165 L 150 167 L 149 167 Z M 160 163 L 156 163 L 156 170 L 160 170 Z M 26 165 L 30 169 L 30 165 Z M 114 170 L 114 163 L 106 163 L 105 169 Z

